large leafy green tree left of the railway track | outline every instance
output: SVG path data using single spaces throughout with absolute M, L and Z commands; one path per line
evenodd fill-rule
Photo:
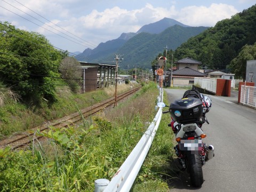
M 63 54 L 38 33 L 0 22 L 0 81 L 23 100 L 54 101 Z

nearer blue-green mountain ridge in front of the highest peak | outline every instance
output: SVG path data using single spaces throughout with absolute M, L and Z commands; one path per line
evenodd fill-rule
M 175 50 L 190 37 L 202 33 L 207 27 L 181 27 L 175 25 L 165 29 L 160 34 L 140 33 L 127 41 L 117 50 L 117 53 L 124 55 L 121 68 L 137 65 L 140 68 L 151 68 L 151 61 L 157 57 L 159 52 L 164 51 L 167 45 Z M 113 58 L 109 55 L 106 60 Z

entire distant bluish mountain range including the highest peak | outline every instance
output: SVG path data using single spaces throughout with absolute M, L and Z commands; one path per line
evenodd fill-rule
M 100 43 L 95 49 L 86 49 L 76 56 L 78 61 L 115 62 L 115 54 L 123 54 L 123 66 L 150 68 L 150 60 L 163 51 L 164 46 L 176 49 L 191 36 L 207 27 L 189 27 L 173 19 L 164 18 L 141 27 L 137 33 L 123 33 L 119 38 Z

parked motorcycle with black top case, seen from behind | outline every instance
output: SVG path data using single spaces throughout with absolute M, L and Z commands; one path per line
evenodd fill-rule
M 175 154 L 183 170 L 187 169 L 190 175 L 190 183 L 195 187 L 201 187 L 203 183 L 202 166 L 206 161 L 214 157 L 214 147 L 206 145 L 203 138 L 206 137 L 202 130 L 202 124 L 207 122 L 205 106 L 199 98 L 189 97 L 176 99 L 170 106 L 165 103 L 157 103 L 158 107 L 169 107 L 175 140 L 178 144 L 174 147 Z

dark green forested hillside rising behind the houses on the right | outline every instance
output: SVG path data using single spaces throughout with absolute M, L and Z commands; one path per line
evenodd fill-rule
M 256 42 L 255 31 L 256 5 L 191 37 L 175 50 L 174 55 L 176 59 L 190 57 L 201 61 L 202 66 L 207 69 L 230 69 L 235 73 L 234 66 L 229 64 L 238 56 L 244 45 L 253 45 Z M 243 73 L 240 71 L 236 75 L 242 76 Z

